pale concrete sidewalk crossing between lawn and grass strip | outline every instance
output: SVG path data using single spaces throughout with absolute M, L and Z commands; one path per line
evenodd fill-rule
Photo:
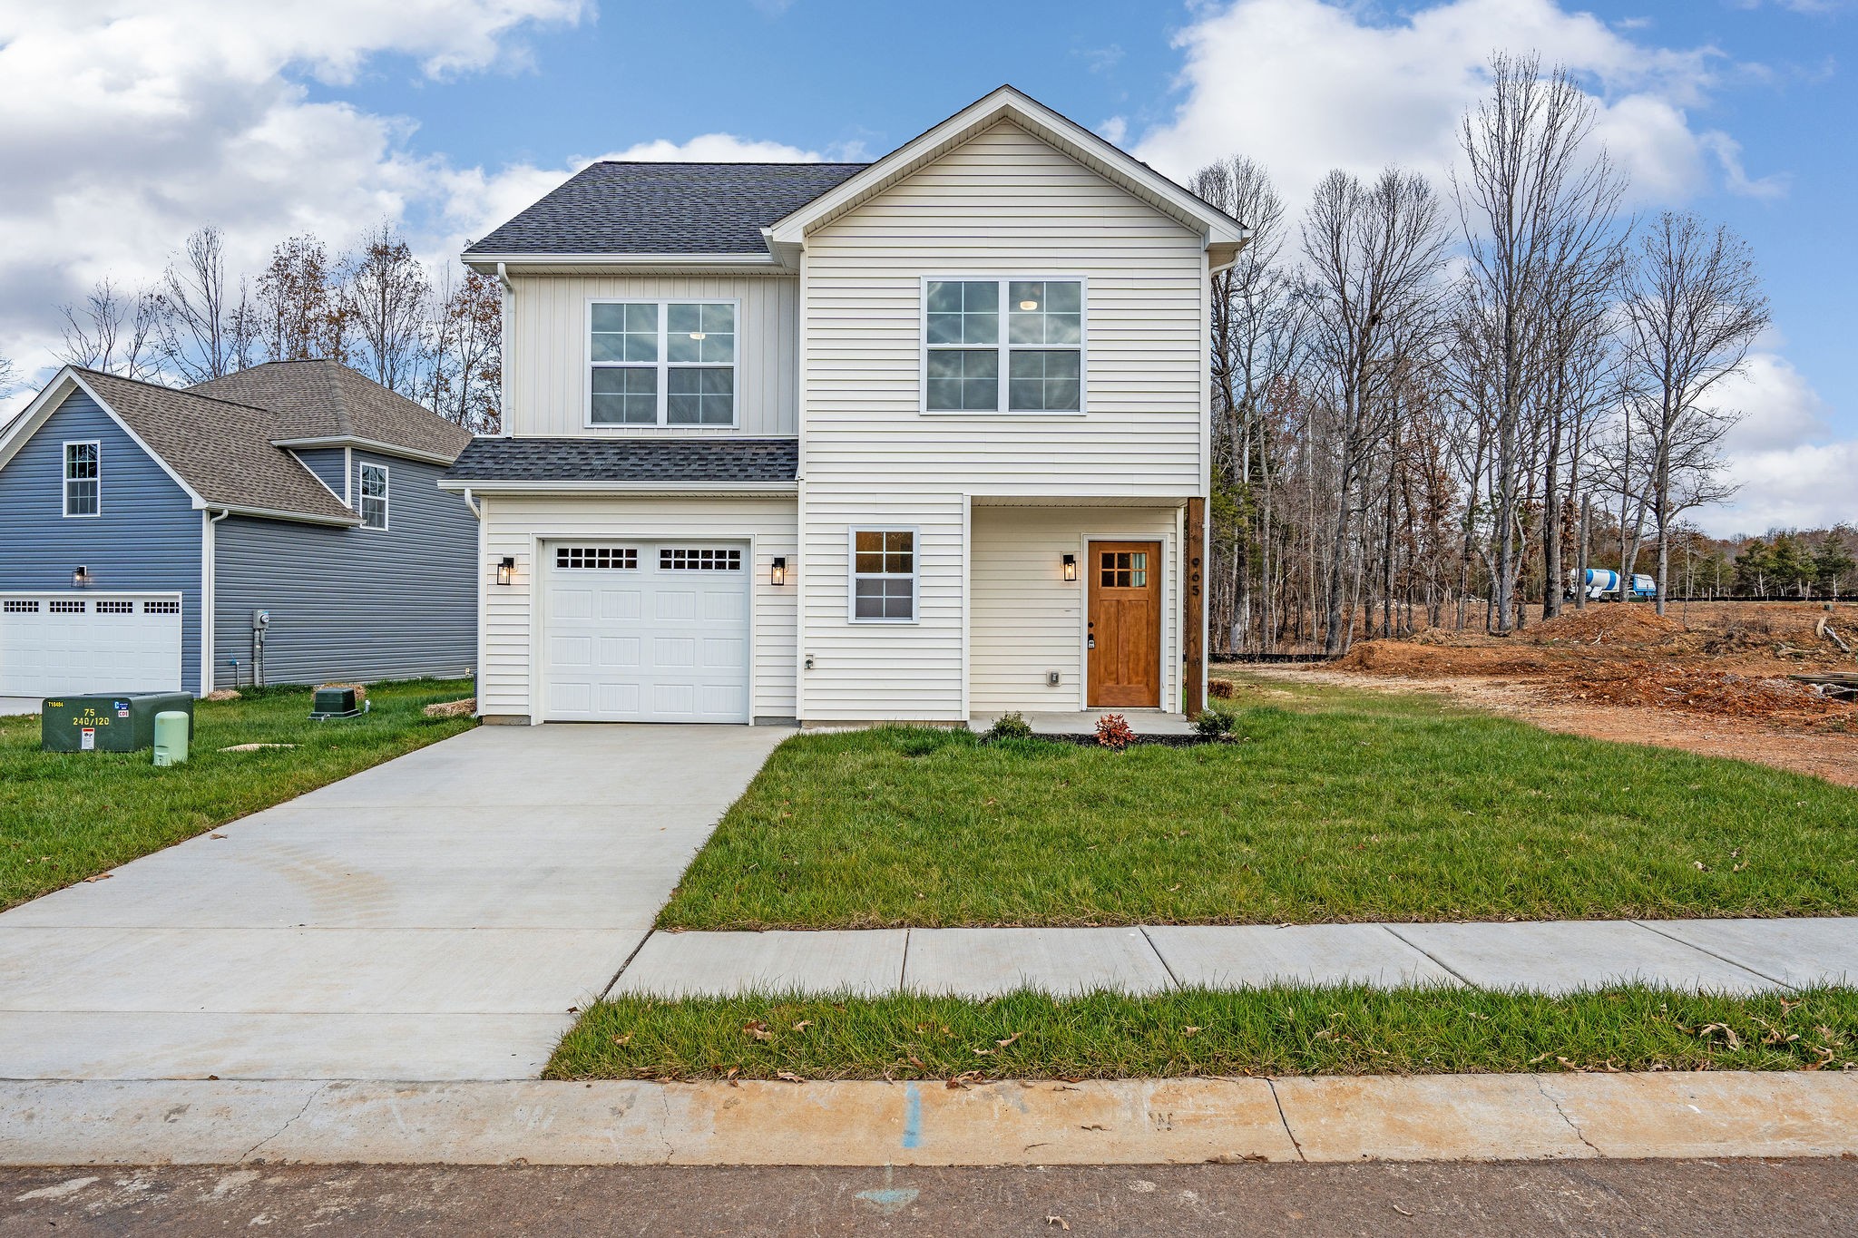
M 1858 978 L 1858 919 L 652 934 L 611 993 L 1079 993 L 1267 984 L 1760 993 Z

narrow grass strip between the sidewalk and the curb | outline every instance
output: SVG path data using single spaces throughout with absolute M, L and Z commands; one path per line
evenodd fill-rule
M 1182 989 L 591 1006 L 546 1078 L 1163 1078 L 1852 1069 L 1858 991 Z

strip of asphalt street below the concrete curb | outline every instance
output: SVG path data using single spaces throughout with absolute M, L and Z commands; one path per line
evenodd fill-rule
M 1854 1160 L 4 1169 L 13 1234 L 1851 1234 Z

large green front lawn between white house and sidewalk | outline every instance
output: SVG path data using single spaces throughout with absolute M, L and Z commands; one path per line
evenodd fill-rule
M 1434 698 L 1250 687 L 1236 744 L 775 752 L 661 928 L 1849 915 L 1858 793 Z

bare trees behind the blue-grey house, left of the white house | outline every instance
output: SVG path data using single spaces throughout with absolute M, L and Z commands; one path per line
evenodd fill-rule
M 98 280 L 61 306 L 58 360 L 152 382 L 204 382 L 279 360 L 338 360 L 474 432 L 500 414 L 502 299 L 476 271 L 429 271 L 390 226 L 349 252 L 314 236 L 227 271 L 219 228 L 195 230 L 147 288 Z

